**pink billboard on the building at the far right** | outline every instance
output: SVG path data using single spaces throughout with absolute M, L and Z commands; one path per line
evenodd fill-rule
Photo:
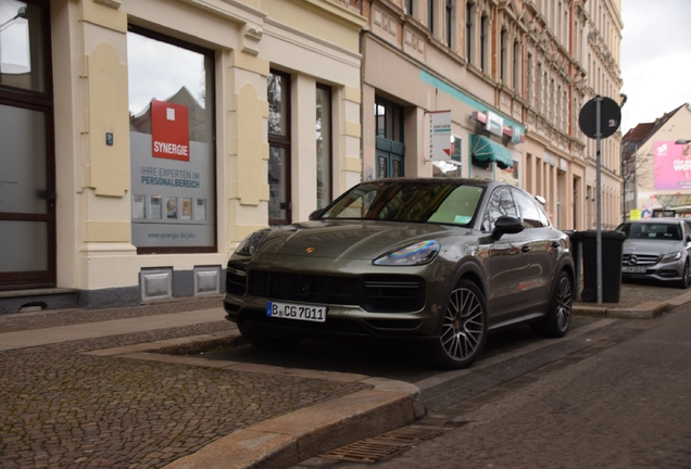
M 656 141 L 655 189 L 691 190 L 691 144 L 676 144 L 674 141 Z

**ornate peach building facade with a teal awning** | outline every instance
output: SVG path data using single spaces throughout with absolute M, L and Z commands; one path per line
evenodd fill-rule
M 502 179 L 543 195 L 557 227 L 595 228 L 578 118 L 596 96 L 619 102 L 619 1 L 373 0 L 363 15 L 364 178 Z M 450 161 L 430 144 L 440 113 Z M 620 219 L 619 142 L 601 145 L 604 228 Z

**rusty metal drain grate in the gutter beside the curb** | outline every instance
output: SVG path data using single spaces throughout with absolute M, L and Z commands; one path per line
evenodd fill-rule
M 403 427 L 370 439 L 351 443 L 323 454 L 321 457 L 354 462 L 377 462 L 385 457 L 415 446 L 425 440 L 434 439 L 449 430 L 452 429 L 425 426 Z

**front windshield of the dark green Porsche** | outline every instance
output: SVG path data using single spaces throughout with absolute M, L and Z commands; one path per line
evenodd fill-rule
M 354 187 L 319 218 L 468 225 L 482 195 L 480 186 L 370 181 Z

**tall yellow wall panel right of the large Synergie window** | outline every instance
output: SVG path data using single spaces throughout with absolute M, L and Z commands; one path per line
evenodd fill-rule
M 263 121 L 268 117 L 268 103 L 256 97 L 252 85 L 244 85 L 237 99 L 238 197 L 243 205 L 259 205 L 268 200 L 268 182 L 264 161 L 268 143 L 263 135 Z

